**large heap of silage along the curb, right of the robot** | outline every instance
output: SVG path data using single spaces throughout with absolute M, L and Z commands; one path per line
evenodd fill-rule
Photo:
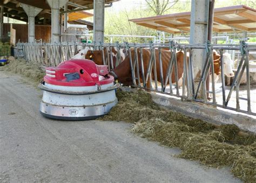
M 179 147 L 180 158 L 211 167 L 230 166 L 234 175 L 256 182 L 256 136 L 239 136 L 236 125 L 213 125 L 160 108 L 143 90 L 117 92 L 118 104 L 104 120 L 135 123 L 131 131 L 163 145 Z

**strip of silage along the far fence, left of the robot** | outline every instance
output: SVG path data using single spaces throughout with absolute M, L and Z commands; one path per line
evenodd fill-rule
M 21 74 L 30 78 L 32 82 L 41 82 L 45 75 L 41 65 L 32 62 L 26 62 L 25 60 L 14 60 L 10 61 L 8 65 L 5 66 L 6 71 Z

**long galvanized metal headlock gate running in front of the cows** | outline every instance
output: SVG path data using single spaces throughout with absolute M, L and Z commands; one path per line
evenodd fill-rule
M 238 112 L 244 112 L 250 115 L 256 115 L 251 110 L 251 88 L 250 88 L 250 65 L 248 55 L 250 51 L 256 51 L 256 45 L 247 45 L 244 41 L 241 41 L 239 45 L 224 44 L 224 45 L 212 45 L 207 42 L 206 44 L 176 44 L 170 41 L 168 44 L 131 44 L 131 43 L 116 43 L 116 44 L 102 44 L 102 43 L 59 43 L 59 44 L 29 44 L 23 43 L 17 45 L 18 55 L 22 55 L 27 61 L 36 61 L 46 66 L 57 66 L 64 60 L 69 60 L 73 55 L 78 53 L 80 49 L 90 47 L 91 50 L 102 50 L 104 55 L 104 48 L 110 53 L 103 56 L 103 63 L 109 66 L 109 70 L 112 71 L 113 56 L 111 54 L 112 47 L 116 47 L 118 50 L 116 66 L 120 64 L 120 51 L 125 52 L 125 56 L 130 59 L 130 69 L 133 86 L 143 88 L 157 93 L 164 93 L 181 98 L 181 100 L 193 100 L 201 103 L 214 105 L 215 107 L 221 107 L 225 109 L 235 110 Z M 150 51 L 150 60 L 143 60 L 143 49 Z M 204 50 L 206 52 L 206 60 L 204 62 L 203 70 L 199 82 L 194 81 L 194 69 L 192 59 L 192 53 L 194 50 Z M 170 59 L 168 60 L 168 67 L 163 68 L 162 52 L 163 50 L 169 50 Z M 215 95 L 215 83 L 214 75 L 210 78 L 211 90 L 206 89 L 206 80 L 208 73 L 214 71 L 213 62 L 213 50 L 219 50 L 220 52 L 220 68 L 221 68 L 221 90 L 222 90 L 222 103 L 217 103 Z M 240 51 L 240 62 L 237 72 L 234 75 L 234 79 L 230 90 L 226 93 L 225 78 L 224 78 L 224 62 L 223 54 L 224 50 Z M 158 55 L 156 55 L 158 51 Z M 182 51 L 184 55 L 189 54 L 187 57 L 183 57 L 183 83 L 182 92 L 180 93 L 178 87 L 178 66 L 176 53 Z M 132 52 L 134 57 L 132 58 Z M 158 57 L 159 62 L 156 62 Z M 144 68 L 144 62 L 147 62 L 147 68 Z M 158 64 L 158 65 L 157 65 Z M 159 68 L 160 79 L 157 79 L 157 67 Z M 166 74 L 164 75 L 164 69 Z M 174 71 L 173 71 L 174 70 Z M 172 73 L 175 75 L 175 82 L 172 82 Z M 239 87 L 242 79 L 242 75 L 246 72 L 246 90 L 247 97 L 239 96 Z M 152 78 L 152 74 L 154 77 Z M 158 85 L 158 81 L 160 85 Z M 147 88 L 150 83 L 150 88 Z M 152 84 L 153 83 L 153 84 Z M 169 84 L 169 85 L 168 85 Z M 175 85 L 174 85 L 175 84 Z M 236 94 L 236 107 L 231 107 L 228 103 L 231 100 L 231 95 L 235 90 Z M 212 101 L 207 100 L 207 93 L 212 94 Z M 200 95 L 199 95 L 200 94 Z M 200 97 L 199 97 L 200 96 Z M 240 100 L 247 101 L 247 110 L 240 109 Z

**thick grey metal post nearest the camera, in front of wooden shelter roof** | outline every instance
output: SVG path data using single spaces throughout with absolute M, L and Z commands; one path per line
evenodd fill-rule
M 190 44 L 204 44 L 207 40 L 208 11 L 210 0 L 191 2 L 190 20 Z M 204 50 L 196 49 L 193 51 L 192 60 L 194 77 L 200 78 L 203 64 L 206 58 Z

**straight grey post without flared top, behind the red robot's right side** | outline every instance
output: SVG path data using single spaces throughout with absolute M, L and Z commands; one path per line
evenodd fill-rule
M 93 0 L 93 41 L 104 43 L 104 0 Z

